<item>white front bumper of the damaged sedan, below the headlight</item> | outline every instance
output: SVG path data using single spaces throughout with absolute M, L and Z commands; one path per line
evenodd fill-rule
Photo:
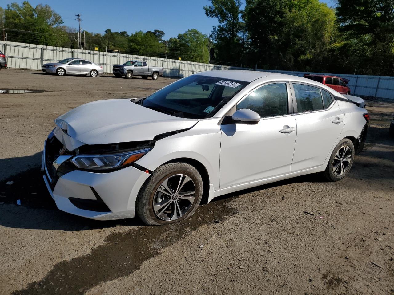
M 134 217 L 139 190 L 150 176 L 130 166 L 108 173 L 74 170 L 54 181 L 45 165 L 45 149 L 41 164 L 46 188 L 56 206 L 64 212 L 97 220 Z

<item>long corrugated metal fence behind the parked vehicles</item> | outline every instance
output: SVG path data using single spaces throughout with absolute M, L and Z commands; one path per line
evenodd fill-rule
M 159 57 L 129 55 L 122 53 L 108 53 L 99 51 L 79 50 L 53 46 L 25 44 L 19 42 L 0 41 L 0 50 L 7 56 L 9 68 L 23 68 L 41 70 L 44 63 L 60 61 L 68 57 L 88 59 L 93 63 L 103 66 L 104 73 L 112 74 L 112 65 L 123 64 L 128 60 L 147 61 L 151 66 L 162 66 L 163 75 L 168 77 L 186 77 L 198 72 L 209 70 L 253 70 L 251 68 L 239 68 L 234 66 L 211 65 L 195 63 L 191 61 L 178 61 Z M 258 70 L 260 71 L 260 70 Z M 295 76 L 303 76 L 307 72 L 291 72 L 280 70 L 267 70 Z M 311 73 L 308 73 L 311 74 Z M 312 73 L 321 74 L 321 73 Z M 330 74 L 349 79 L 349 87 L 353 95 L 375 96 L 394 100 L 394 77 L 389 76 L 364 76 Z

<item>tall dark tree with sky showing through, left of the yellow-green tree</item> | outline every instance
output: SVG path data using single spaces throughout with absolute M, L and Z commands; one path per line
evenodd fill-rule
M 204 6 L 207 17 L 217 18 L 218 26 L 212 30 L 214 59 L 222 62 L 241 63 L 245 23 L 241 20 L 240 0 L 211 0 Z

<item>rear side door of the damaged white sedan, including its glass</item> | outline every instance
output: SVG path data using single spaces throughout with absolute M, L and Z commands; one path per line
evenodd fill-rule
M 292 83 L 297 140 L 292 172 L 321 166 L 345 125 L 338 102 L 324 89 Z

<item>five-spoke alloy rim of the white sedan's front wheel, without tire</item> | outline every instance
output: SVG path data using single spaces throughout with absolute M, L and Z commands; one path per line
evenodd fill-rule
M 186 214 L 195 200 L 195 184 L 190 177 L 176 174 L 166 178 L 153 197 L 153 211 L 162 220 L 173 221 Z

